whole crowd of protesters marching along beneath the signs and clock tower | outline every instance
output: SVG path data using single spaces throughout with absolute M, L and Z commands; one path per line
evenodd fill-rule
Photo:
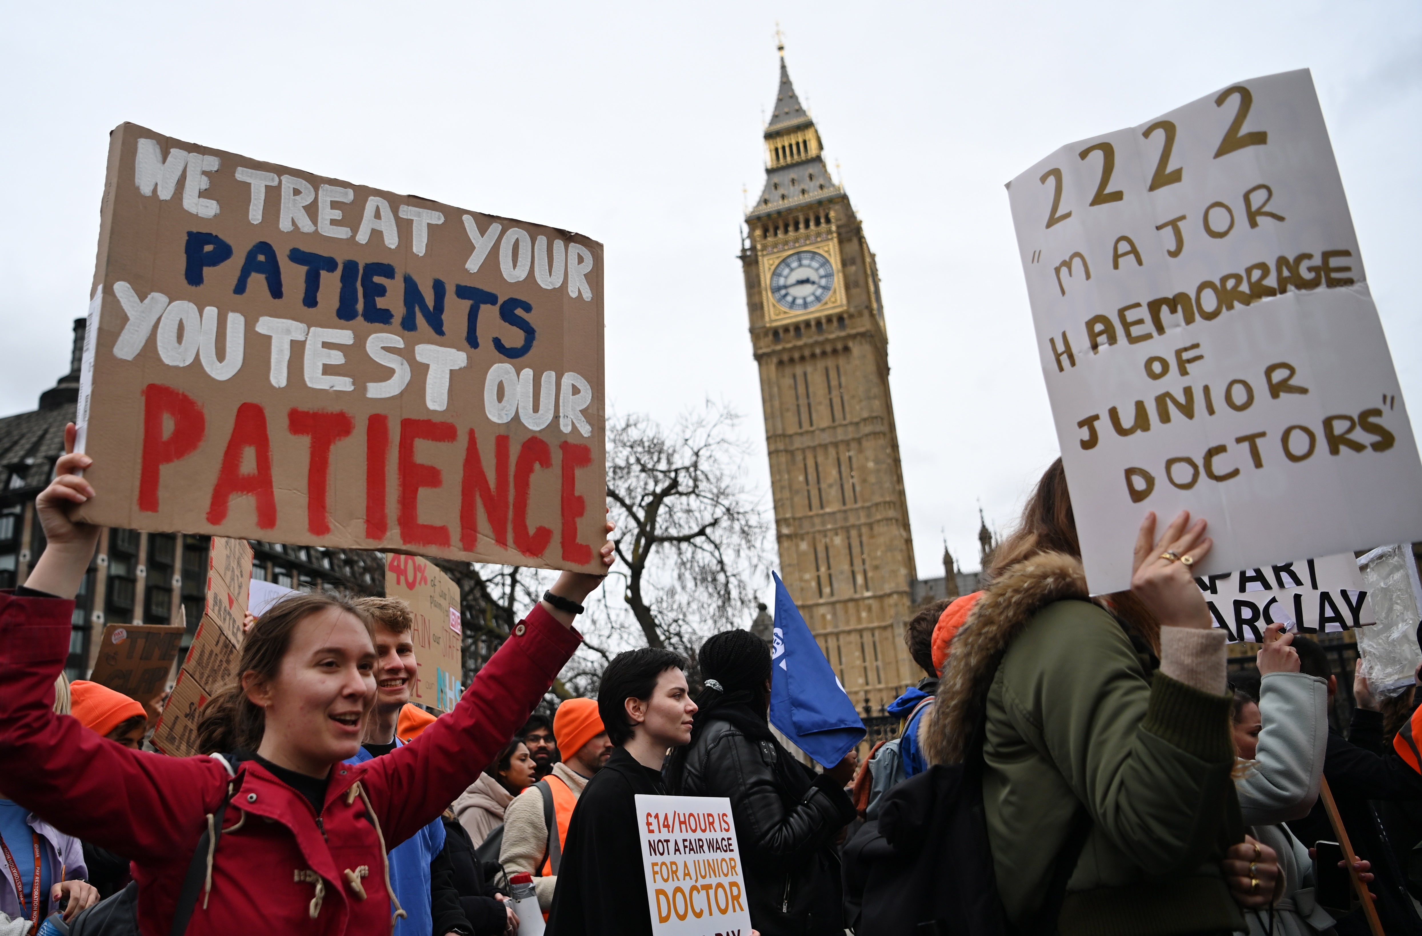
M 651 933 L 638 794 L 729 801 L 764 936 L 1348 935 L 1372 912 L 1422 936 L 1422 700 L 1355 674 L 1344 737 L 1328 656 L 1278 624 L 1258 681 L 1227 684 L 1190 569 L 1204 519 L 1148 515 L 1130 589 L 1092 597 L 1059 461 L 985 587 L 904 626 L 923 679 L 889 707 L 899 735 L 819 768 L 771 728 L 748 630 L 700 647 L 700 691 L 633 650 L 596 700 L 535 713 L 602 582 L 569 572 L 438 718 L 411 704 L 402 602 L 289 596 L 203 706 L 203 755 L 164 757 L 144 706 L 60 674 L 90 464 L 60 459 L 47 548 L 0 593 L 0 936 Z

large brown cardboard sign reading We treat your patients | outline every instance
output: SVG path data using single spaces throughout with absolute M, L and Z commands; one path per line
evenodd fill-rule
M 91 294 L 81 519 L 602 570 L 596 240 L 122 124 Z

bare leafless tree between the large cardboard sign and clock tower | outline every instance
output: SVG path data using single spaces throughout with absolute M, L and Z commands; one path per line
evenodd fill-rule
M 707 403 L 671 427 L 633 414 L 607 428 L 613 575 L 650 647 L 690 653 L 751 607 L 769 526 L 744 481 L 738 424 Z

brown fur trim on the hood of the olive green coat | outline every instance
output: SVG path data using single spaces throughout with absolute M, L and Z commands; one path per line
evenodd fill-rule
M 1003 653 L 1032 615 L 1052 602 L 1089 596 L 1081 560 L 1059 552 L 1025 559 L 993 582 L 954 636 L 937 701 L 921 718 L 919 743 L 930 764 L 963 761 Z

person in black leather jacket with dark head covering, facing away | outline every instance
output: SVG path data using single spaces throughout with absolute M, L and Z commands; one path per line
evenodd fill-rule
M 708 639 L 691 744 L 664 770 L 668 789 L 727 797 L 751 925 L 762 936 L 843 936 L 835 836 L 855 818 L 852 762 L 816 777 L 771 734 L 771 650 L 747 630 Z

